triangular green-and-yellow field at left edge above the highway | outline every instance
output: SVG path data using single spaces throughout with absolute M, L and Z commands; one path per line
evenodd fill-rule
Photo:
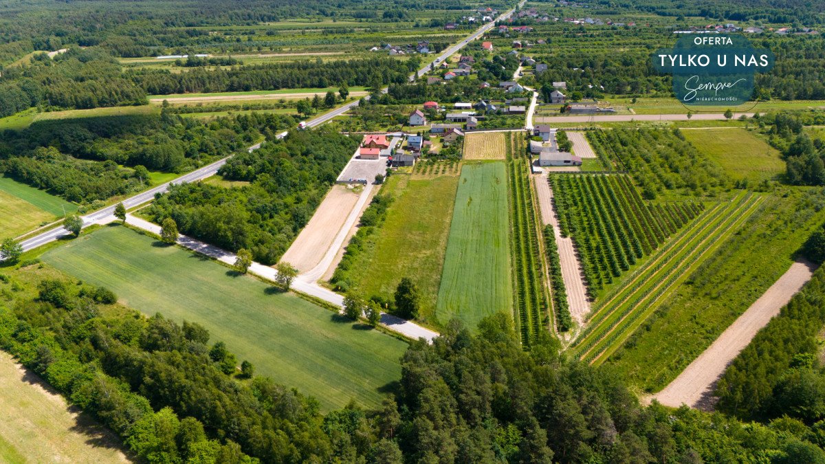
M 35 230 L 45 221 L 78 210 L 76 205 L 35 187 L 0 176 L 0 239 Z

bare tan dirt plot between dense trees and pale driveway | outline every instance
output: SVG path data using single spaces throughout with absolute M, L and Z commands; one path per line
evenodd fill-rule
M 343 185 L 334 185 L 324 196 L 318 210 L 301 230 L 281 260 L 292 264 L 299 272 L 307 272 L 321 262 L 335 236 L 356 206 L 358 193 Z

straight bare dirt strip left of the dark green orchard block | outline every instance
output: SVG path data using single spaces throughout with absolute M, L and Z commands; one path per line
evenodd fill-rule
M 553 191 L 547 182 L 547 176 L 535 176 L 535 191 L 539 200 L 542 224 L 553 225 L 556 244 L 559 246 L 559 263 L 562 267 L 562 280 L 568 294 L 570 315 L 577 323 L 582 324 L 584 316 L 590 312 L 590 302 L 587 301 L 587 287 L 584 286 L 582 267 L 578 263 L 576 249 L 573 248 L 573 239 L 563 238 L 559 231 L 559 222 L 553 211 Z

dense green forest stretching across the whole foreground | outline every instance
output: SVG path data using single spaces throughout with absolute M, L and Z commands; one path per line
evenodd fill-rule
M 29 269 L 36 263 L 29 264 Z M 24 269 L 26 267 L 24 266 Z M 26 271 L 29 272 L 29 271 Z M 2 274 L 0 287 L 21 282 Z M 199 324 L 111 305 L 60 278 L 0 305 L 0 346 L 146 462 L 823 462 L 823 426 L 742 424 L 639 405 L 604 370 L 521 348 L 504 314 L 413 343 L 379 410 L 318 402 L 235 370 Z

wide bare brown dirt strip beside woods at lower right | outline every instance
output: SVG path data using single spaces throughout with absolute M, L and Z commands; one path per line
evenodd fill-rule
M 682 404 L 701 410 L 712 410 L 716 381 L 728 364 L 751 342 L 759 329 L 778 315 L 782 306 L 811 279 L 815 266 L 800 260 L 790 266 L 767 291 L 733 324 L 719 335 L 714 343 L 696 357 L 664 390 L 646 400 L 658 400 L 673 407 Z

